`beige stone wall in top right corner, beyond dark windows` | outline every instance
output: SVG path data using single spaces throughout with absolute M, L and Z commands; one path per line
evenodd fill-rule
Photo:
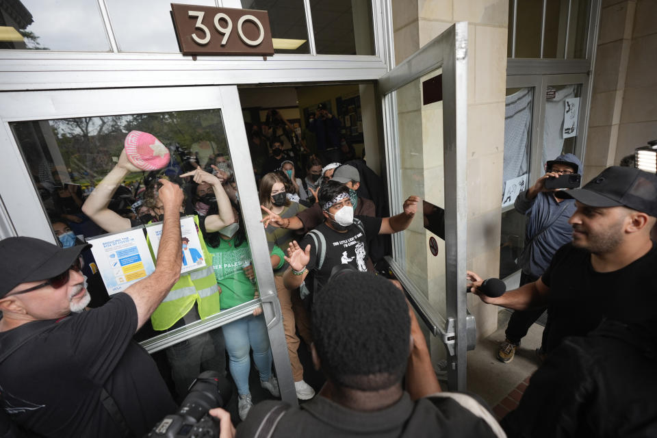
M 657 1 L 603 0 L 584 180 L 657 139 Z

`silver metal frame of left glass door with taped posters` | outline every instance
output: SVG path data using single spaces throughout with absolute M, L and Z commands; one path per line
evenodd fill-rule
M 166 88 L 107 88 L 94 90 L 44 90 L 3 93 L 0 101 L 0 146 L 5 159 L 0 160 L 0 238 L 10 235 L 30 235 L 57 243 L 46 211 L 31 180 L 28 166 L 16 144 L 10 122 L 50 120 L 91 116 L 114 116 L 153 112 L 186 110 L 221 110 L 222 123 L 229 153 L 233 162 L 235 182 L 240 194 L 244 226 L 253 259 L 253 268 L 260 292 L 260 302 L 268 326 L 276 374 L 279 378 L 281 398 L 296 404 L 296 391 L 292 369 L 287 355 L 287 342 L 283 331 L 281 305 L 271 269 L 265 231 L 260 222 L 260 202 L 250 152 L 244 131 L 244 119 L 237 86 L 197 86 Z M 234 158 L 233 158 L 234 157 Z M 238 159 L 239 158 L 239 159 Z M 21 220 L 11 219 L 20 218 Z M 6 225 L 8 224 L 8 226 Z M 250 315 L 259 302 L 222 311 L 205 320 L 197 321 L 142 342 L 155 352 L 177 344 L 184 339 L 216 329 L 219 326 Z

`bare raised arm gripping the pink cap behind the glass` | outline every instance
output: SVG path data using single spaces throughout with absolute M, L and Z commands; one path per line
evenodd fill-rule
M 130 220 L 121 217 L 115 211 L 107 208 L 110 204 L 114 192 L 123 181 L 126 175 L 130 172 L 140 172 L 141 170 L 133 166 L 129 161 L 125 151 L 121 152 L 118 157 L 118 163 L 105 178 L 101 180 L 93 192 L 89 195 L 85 203 L 82 205 L 82 211 L 89 216 L 96 225 L 107 231 L 108 233 L 116 233 L 118 231 L 125 231 L 130 228 Z

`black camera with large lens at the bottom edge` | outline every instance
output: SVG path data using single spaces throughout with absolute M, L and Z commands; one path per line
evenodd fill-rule
M 219 420 L 207 411 L 224 407 L 231 398 L 233 386 L 216 371 L 204 371 L 190 386 L 190 392 L 177 413 L 157 423 L 147 437 L 218 437 Z

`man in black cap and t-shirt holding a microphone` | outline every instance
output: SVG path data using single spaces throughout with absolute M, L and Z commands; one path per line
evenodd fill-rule
M 657 177 L 613 166 L 582 189 L 558 192 L 574 198 L 573 240 L 552 257 L 541 278 L 498 298 L 480 294 L 482 279 L 468 272 L 482 301 L 510 309 L 548 306 L 543 348 L 564 337 L 586 335 L 604 319 L 641 324 L 657 309 L 657 249 L 650 230 L 657 216 Z

